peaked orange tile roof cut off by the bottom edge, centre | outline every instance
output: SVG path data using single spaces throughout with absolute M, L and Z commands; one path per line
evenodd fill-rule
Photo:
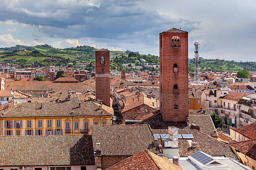
M 183 168 L 174 165 L 164 156 L 145 150 L 122 160 L 107 170 L 183 170 Z

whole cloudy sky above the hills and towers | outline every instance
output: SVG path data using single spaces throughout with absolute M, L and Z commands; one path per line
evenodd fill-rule
M 0 47 L 90 45 L 159 55 L 159 33 L 189 32 L 199 56 L 256 62 L 255 0 L 0 0 Z

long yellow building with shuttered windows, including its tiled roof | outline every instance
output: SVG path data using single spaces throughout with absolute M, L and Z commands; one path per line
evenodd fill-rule
M 1 135 L 81 135 L 111 125 L 113 109 L 94 101 L 25 102 L 0 115 Z

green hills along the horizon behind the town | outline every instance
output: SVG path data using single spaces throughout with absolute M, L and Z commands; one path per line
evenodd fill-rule
M 79 62 L 93 62 L 95 61 L 94 47 L 88 45 L 70 47 L 64 49 L 58 49 L 51 47 L 50 45 L 36 45 L 34 47 L 28 47 L 24 45 L 16 45 L 15 47 L 3 47 L 0 48 L 0 61 L 9 62 L 14 64 L 28 64 L 34 63 L 36 65 L 63 65 L 66 66 L 72 62 L 73 65 Z M 49 59 L 61 59 L 60 61 L 50 61 Z M 126 51 L 110 51 L 110 68 L 121 70 L 122 64 L 133 63 L 136 66 L 143 66 L 143 69 L 158 70 L 158 68 L 147 68 L 146 65 L 140 64 L 138 60 L 144 59 L 146 63 L 157 64 L 159 63 L 159 57 L 155 55 L 145 55 L 139 52 Z M 256 71 L 256 62 L 235 62 L 219 59 L 204 59 L 199 58 L 201 71 L 239 71 L 245 68 L 247 65 L 248 71 Z M 71 65 L 72 66 L 72 65 Z M 189 72 L 194 72 L 194 63 L 192 59 L 189 59 Z M 126 68 L 127 70 L 132 70 Z

